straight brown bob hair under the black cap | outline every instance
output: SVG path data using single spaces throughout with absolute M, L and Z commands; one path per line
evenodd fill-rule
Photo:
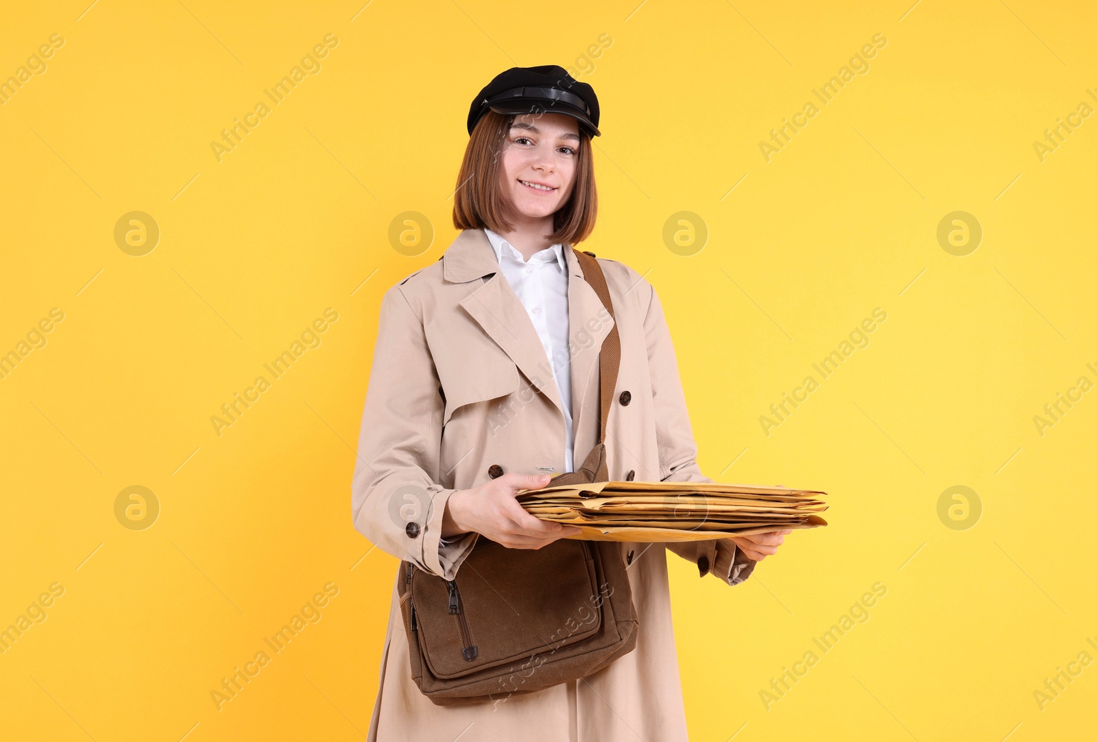
M 510 232 L 513 227 L 502 216 L 499 193 L 499 155 L 510 131 L 513 115 L 488 111 L 476 123 L 468 137 L 465 156 L 457 173 L 457 190 L 453 194 L 453 226 L 457 229 Z M 575 186 L 567 203 L 553 214 L 553 244 L 576 245 L 590 236 L 598 216 L 598 191 L 595 188 L 595 164 L 590 136 L 579 127 L 576 153 Z

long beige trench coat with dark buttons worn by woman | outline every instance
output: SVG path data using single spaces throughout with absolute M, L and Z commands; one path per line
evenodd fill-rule
M 565 246 L 575 463 L 598 437 L 598 352 L 613 319 Z M 678 366 L 652 285 L 599 258 L 621 338 L 606 446 L 611 480 L 711 481 L 697 465 Z M 621 404 L 621 392 L 632 395 Z M 477 535 L 440 544 L 445 502 L 488 468 L 563 471 L 561 400 L 541 340 L 483 229 L 389 289 L 381 305 L 352 484 L 354 527 L 384 551 L 453 578 Z M 636 649 L 590 677 L 494 704 L 436 706 L 411 679 L 394 580 L 370 739 L 462 742 L 686 740 L 666 550 L 735 585 L 754 570 L 731 540 L 621 543 Z

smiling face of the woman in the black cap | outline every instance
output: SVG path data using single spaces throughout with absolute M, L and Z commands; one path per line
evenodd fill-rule
M 580 146 L 579 123 L 572 116 L 514 116 L 502 140 L 499 189 L 517 216 L 545 217 L 567 203 Z

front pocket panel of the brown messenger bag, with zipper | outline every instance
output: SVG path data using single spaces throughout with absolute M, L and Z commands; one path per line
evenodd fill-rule
M 411 578 L 419 644 L 439 678 L 462 677 L 538 653 L 550 659 L 559 647 L 587 639 L 601 626 L 603 596 L 591 546 L 584 541 L 506 549 L 482 536 L 454 582 L 456 614 L 450 612 L 445 580 L 421 570 Z M 471 647 L 475 651 L 468 651 Z

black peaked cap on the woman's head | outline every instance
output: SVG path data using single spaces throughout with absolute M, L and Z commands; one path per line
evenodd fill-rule
M 558 65 L 511 67 L 479 91 L 468 110 L 468 134 L 488 109 L 496 113 L 562 113 L 578 120 L 590 136 L 598 131 L 598 97 Z

